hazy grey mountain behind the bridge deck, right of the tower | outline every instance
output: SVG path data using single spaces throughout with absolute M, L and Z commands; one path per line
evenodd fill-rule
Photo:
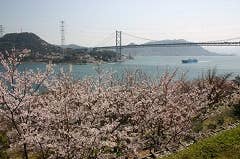
M 174 44 L 174 43 L 186 43 L 188 41 L 179 40 L 162 40 L 148 42 L 145 44 Z M 130 43 L 129 45 L 131 45 Z M 144 48 L 124 48 L 123 54 L 141 55 L 141 56 L 217 56 L 219 54 L 210 52 L 201 46 L 191 47 L 144 47 Z

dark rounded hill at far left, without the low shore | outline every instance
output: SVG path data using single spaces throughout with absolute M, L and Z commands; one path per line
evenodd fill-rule
M 23 50 L 31 49 L 33 53 L 47 54 L 49 52 L 61 52 L 61 48 L 42 40 L 34 33 L 10 33 L 0 38 L 0 51 L 13 48 Z

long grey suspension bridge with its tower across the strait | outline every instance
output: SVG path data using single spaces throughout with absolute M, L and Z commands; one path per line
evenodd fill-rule
M 113 33 L 112 33 L 113 34 Z M 110 35 L 112 35 L 110 34 Z M 104 49 L 115 49 L 118 55 L 118 58 L 121 58 L 122 49 L 124 48 L 144 48 L 144 47 L 194 47 L 194 46 L 240 46 L 240 37 L 215 40 L 215 41 L 205 41 L 205 42 L 159 42 L 159 40 L 153 40 L 145 37 L 140 37 L 137 35 L 129 34 L 122 31 L 116 31 L 115 33 L 115 45 L 109 46 L 97 46 L 93 49 L 95 50 L 104 50 Z M 136 39 L 142 39 L 148 41 L 148 43 L 143 44 L 127 44 L 122 45 L 122 35 L 127 35 Z

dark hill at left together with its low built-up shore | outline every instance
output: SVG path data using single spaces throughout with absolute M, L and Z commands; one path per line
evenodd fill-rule
M 10 33 L 0 38 L 0 52 L 12 49 L 30 51 L 25 60 L 70 63 L 93 63 L 96 61 L 114 61 L 116 54 L 112 51 L 93 51 L 85 47 L 61 48 L 42 40 L 34 33 Z

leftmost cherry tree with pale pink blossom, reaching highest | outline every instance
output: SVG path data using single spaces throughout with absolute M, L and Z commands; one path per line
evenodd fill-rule
M 32 131 L 29 124 L 31 118 L 31 103 L 35 100 L 38 91 L 49 75 L 48 70 L 23 70 L 19 72 L 18 66 L 24 54 L 12 52 L 0 53 L 3 71 L 0 72 L 0 114 L 11 123 L 12 131 L 9 132 L 12 140 L 11 146 L 23 145 L 24 156 L 27 155 L 29 141 L 28 131 Z

